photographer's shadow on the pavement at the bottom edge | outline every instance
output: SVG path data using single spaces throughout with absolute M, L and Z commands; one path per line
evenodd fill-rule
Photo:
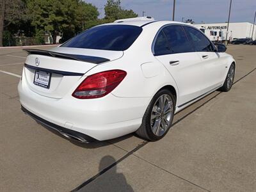
M 111 164 L 111 166 L 109 166 Z M 111 168 L 109 168 L 111 167 Z M 134 191 L 130 184 L 127 183 L 123 173 L 116 170 L 116 159 L 112 156 L 104 156 L 100 160 L 99 174 L 93 179 L 87 180 L 74 191 L 111 191 L 111 192 L 132 192 Z

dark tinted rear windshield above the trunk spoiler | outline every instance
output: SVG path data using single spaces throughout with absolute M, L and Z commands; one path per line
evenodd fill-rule
M 138 38 L 142 28 L 129 25 L 106 25 L 88 29 L 61 47 L 124 51 Z

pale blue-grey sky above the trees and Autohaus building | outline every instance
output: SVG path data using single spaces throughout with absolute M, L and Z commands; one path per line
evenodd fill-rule
M 97 6 L 100 18 L 104 17 L 107 0 L 85 0 Z M 226 22 L 230 0 L 176 0 L 175 20 L 193 19 L 200 22 Z M 122 8 L 132 9 L 139 16 L 145 15 L 156 20 L 172 20 L 173 0 L 121 0 Z M 256 11 L 256 0 L 233 0 L 230 22 L 252 22 Z

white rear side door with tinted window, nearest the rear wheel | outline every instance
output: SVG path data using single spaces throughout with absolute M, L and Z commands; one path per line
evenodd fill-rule
M 178 107 L 202 94 L 203 63 L 189 43 L 182 26 L 162 28 L 153 44 L 154 56 L 163 63 L 179 89 Z

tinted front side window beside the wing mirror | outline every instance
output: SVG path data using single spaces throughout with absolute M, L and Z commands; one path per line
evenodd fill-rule
M 196 51 L 213 51 L 212 43 L 199 30 L 184 26 L 188 38 L 195 45 Z

